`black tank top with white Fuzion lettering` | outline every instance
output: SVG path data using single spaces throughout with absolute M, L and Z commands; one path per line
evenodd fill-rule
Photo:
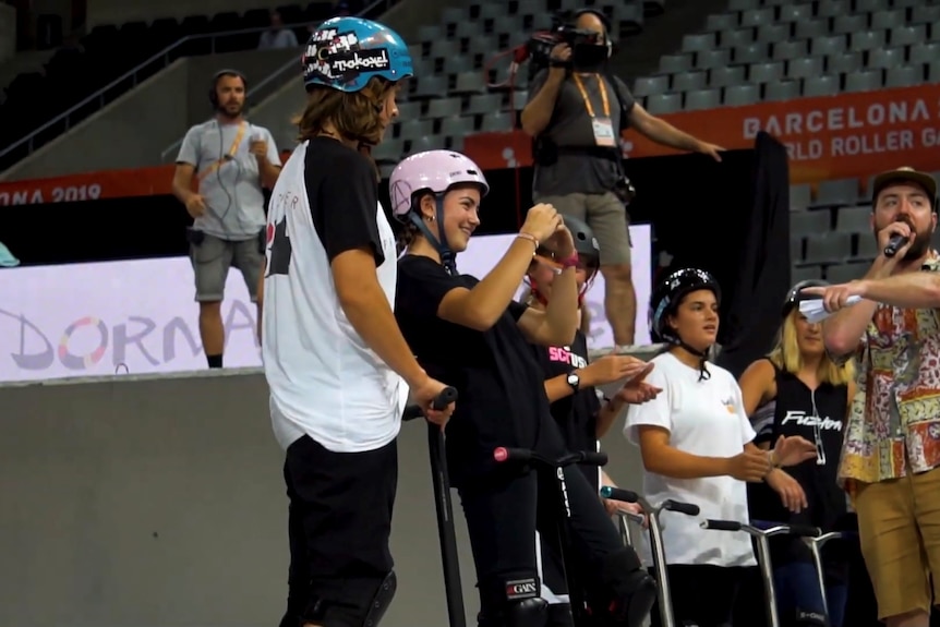
M 821 384 L 809 389 L 795 375 L 774 365 L 776 398 L 758 409 L 755 444 L 776 442 L 781 435 L 802 435 L 817 446 L 817 459 L 783 469 L 803 486 L 808 507 L 791 514 L 780 495 L 766 483 L 748 483 L 751 518 L 811 524 L 831 531 L 846 513 L 845 493 L 836 484 L 848 388 Z M 771 418 L 772 412 L 772 418 Z

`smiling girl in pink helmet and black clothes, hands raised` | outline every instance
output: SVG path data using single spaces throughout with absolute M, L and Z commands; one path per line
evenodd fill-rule
M 489 191 L 475 164 L 449 150 L 412 155 L 393 172 L 389 190 L 394 214 L 407 225 L 396 317 L 419 363 L 447 376 L 460 398 L 447 425 L 446 449 L 477 568 L 479 624 L 543 627 L 547 612 L 539 598 L 535 530 L 555 521 L 550 511 L 557 504 L 540 504 L 537 471 L 497 465 L 493 451 L 499 446 L 552 457 L 565 451 L 529 342 L 564 346 L 574 339 L 578 260 L 571 233 L 554 207 L 535 205 L 481 280 L 460 275 L 455 263 L 480 225 L 480 200 Z M 538 311 L 513 297 L 542 245 L 559 261 L 561 274 L 556 298 Z M 580 571 L 592 576 L 586 588 L 593 616 L 601 624 L 639 626 L 654 602 L 652 579 L 620 543 L 583 474 L 565 469 L 564 480 L 575 553 L 586 563 Z

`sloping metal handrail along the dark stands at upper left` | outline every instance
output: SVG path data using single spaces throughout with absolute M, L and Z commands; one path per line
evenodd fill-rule
M 366 15 L 366 14 L 370 14 L 371 12 L 373 12 L 374 10 L 378 9 L 378 8 L 384 8 L 383 10 L 387 10 L 389 7 L 391 7 L 391 4 L 395 4 L 396 1 L 397 0 L 375 0 L 375 2 L 373 2 L 372 4 L 370 4 L 369 7 L 363 9 L 359 14 L 360 15 Z M 306 23 L 306 22 L 303 22 L 300 24 L 287 24 L 285 27 L 286 28 L 298 28 L 298 27 L 308 26 L 308 24 L 309 23 Z M 75 113 L 77 113 L 82 109 L 86 109 L 89 105 L 95 105 L 94 111 L 98 111 L 98 110 L 103 109 L 105 107 L 105 105 L 108 103 L 108 95 L 112 91 L 115 91 L 116 87 L 122 87 L 120 89 L 121 94 L 124 94 L 124 93 L 133 89 L 140 83 L 142 83 L 144 80 L 153 76 L 156 73 L 156 72 L 149 72 L 149 73 L 145 74 L 144 73 L 145 70 L 152 70 L 154 64 L 159 64 L 157 71 L 165 69 L 167 65 L 169 65 L 172 61 L 176 60 L 176 59 L 170 58 L 170 53 L 186 43 L 208 39 L 210 43 L 210 46 L 212 46 L 209 55 L 214 55 L 217 39 L 225 38 L 225 37 L 239 36 L 239 35 L 251 35 L 253 33 L 261 34 L 267 29 L 268 29 L 268 26 L 263 26 L 263 27 L 257 27 L 257 28 L 243 28 L 240 31 L 226 31 L 222 33 L 209 33 L 209 34 L 204 34 L 204 35 L 188 35 L 188 36 L 177 40 L 174 44 L 168 46 L 167 48 L 164 48 L 162 50 L 160 50 L 159 52 L 157 52 L 156 55 L 154 55 L 153 57 L 150 57 L 146 61 L 138 63 L 136 67 L 129 70 L 128 72 L 124 72 L 123 74 L 121 74 L 120 76 L 118 76 L 117 79 L 115 79 L 113 81 L 111 81 L 110 83 L 108 83 L 107 85 L 105 85 L 104 87 L 101 87 L 100 89 L 98 89 L 97 92 L 95 92 L 94 94 L 88 96 L 87 98 L 84 98 L 80 103 L 73 105 L 71 108 L 59 113 L 58 116 L 56 116 L 55 118 L 52 118 L 51 120 L 49 120 L 48 122 L 43 124 L 41 126 L 34 129 L 33 131 L 29 132 L 29 134 L 27 134 L 23 138 L 13 142 L 9 146 L 7 146 L 2 150 L 0 150 L 0 159 L 2 159 L 3 157 L 5 157 L 10 153 L 12 153 L 13 150 L 15 150 L 15 149 L 17 149 L 24 145 L 27 147 L 27 153 L 32 154 L 38 147 L 36 145 L 36 137 L 40 133 L 49 131 L 56 124 L 64 123 L 64 129 L 62 129 L 61 132 L 62 133 L 69 132 L 74 124 L 81 123 L 91 114 L 91 113 L 85 113 L 84 116 L 80 117 L 77 120 L 74 120 L 73 118 L 75 118 Z M 276 80 L 276 77 L 282 75 L 290 68 L 296 69 L 297 68 L 297 61 L 291 61 L 290 63 L 285 64 L 284 68 L 280 68 L 277 72 L 275 72 L 274 74 L 272 74 L 267 79 L 258 82 L 253 88 L 249 89 L 249 93 L 246 94 L 246 98 L 251 98 L 252 96 L 258 94 L 265 86 L 270 85 L 273 83 L 273 81 Z M 143 77 L 141 77 L 142 75 L 143 75 Z M 128 81 L 131 82 L 130 87 L 124 85 L 124 83 L 126 83 Z M 94 111 L 92 111 L 92 112 L 94 112 Z M 170 150 L 173 147 L 179 147 L 179 145 L 181 143 L 182 143 L 182 138 L 180 138 L 180 141 L 177 144 L 174 144 L 174 146 L 167 148 L 167 150 Z M 166 150 L 165 150 L 165 153 L 166 153 Z

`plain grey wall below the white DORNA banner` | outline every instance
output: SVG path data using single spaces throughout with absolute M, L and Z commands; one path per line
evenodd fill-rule
M 406 425 L 399 447 L 399 589 L 383 627 L 445 625 L 424 425 Z M 638 456 L 617 429 L 604 448 L 611 475 L 639 487 Z M 281 467 L 255 371 L 0 386 L 0 625 L 276 625 L 288 564 Z

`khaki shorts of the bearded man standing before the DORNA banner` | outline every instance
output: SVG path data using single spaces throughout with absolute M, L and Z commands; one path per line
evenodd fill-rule
M 221 302 L 231 266 L 241 270 L 251 302 L 257 302 L 264 253 L 258 238 L 230 242 L 206 233 L 198 245 L 190 244 L 196 279 L 196 302 Z

